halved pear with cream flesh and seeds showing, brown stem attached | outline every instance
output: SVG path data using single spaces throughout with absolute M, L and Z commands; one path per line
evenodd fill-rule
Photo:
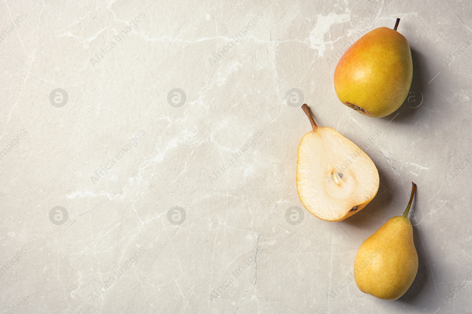
M 296 186 L 303 206 L 316 217 L 341 221 L 365 207 L 379 190 L 374 162 L 335 129 L 316 125 L 298 145 Z

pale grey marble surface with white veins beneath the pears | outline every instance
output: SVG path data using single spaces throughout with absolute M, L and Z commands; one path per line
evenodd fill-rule
M 0 8 L 1 313 L 472 313 L 470 1 Z M 396 17 L 411 91 L 366 117 L 339 102 L 334 69 Z M 292 89 L 379 169 L 342 222 L 298 198 L 310 123 Z M 418 274 L 379 300 L 354 256 L 412 180 Z

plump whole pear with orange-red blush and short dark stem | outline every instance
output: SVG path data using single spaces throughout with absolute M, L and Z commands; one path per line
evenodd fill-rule
M 334 88 L 346 106 L 384 117 L 405 101 L 413 78 L 410 46 L 395 28 L 379 27 L 362 36 L 339 59 Z

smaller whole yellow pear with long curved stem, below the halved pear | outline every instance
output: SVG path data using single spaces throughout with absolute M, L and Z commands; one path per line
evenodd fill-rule
M 403 216 L 390 218 L 361 245 L 354 260 L 354 279 L 364 293 L 396 300 L 410 288 L 418 271 L 418 254 L 408 212 L 416 185 Z

